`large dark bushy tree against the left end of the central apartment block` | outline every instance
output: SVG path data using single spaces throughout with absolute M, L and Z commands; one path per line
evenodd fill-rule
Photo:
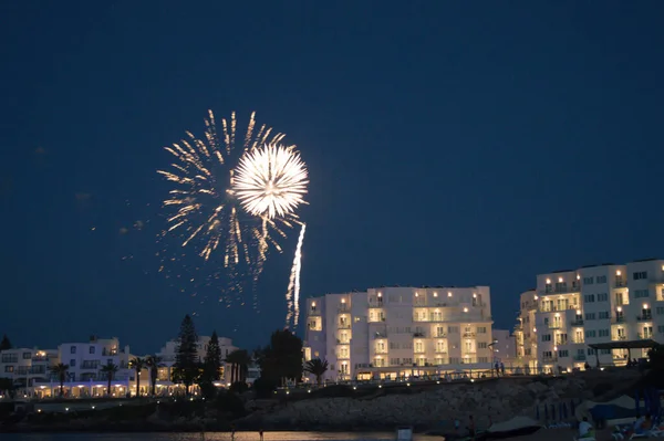
M 261 378 L 281 385 L 302 380 L 302 340 L 290 330 L 273 332 L 259 356 Z

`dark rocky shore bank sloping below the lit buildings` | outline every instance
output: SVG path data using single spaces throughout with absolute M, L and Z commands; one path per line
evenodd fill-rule
M 178 414 L 174 408 L 146 405 L 136 416 L 81 414 L 66 420 L 37 419 L 0 424 L 0 432 L 200 432 L 229 431 L 393 431 L 412 426 L 416 432 L 439 427 L 444 420 L 467 421 L 474 416 L 476 426 L 516 416 L 535 418 L 536 407 L 561 400 L 593 399 L 621 392 L 637 377 L 633 372 L 589 372 L 564 377 L 499 378 L 475 382 L 412 385 L 366 390 L 328 390 L 341 396 L 295 393 L 288 400 L 245 400 L 247 416 L 221 412 L 203 406 L 197 412 Z M 350 389 L 350 388 L 349 388 Z M 322 392 L 322 391 L 321 391 Z M 237 399 L 237 398 L 236 398 Z M 209 403 L 212 405 L 212 403 Z M 151 407 L 153 406 L 153 407 Z M 242 405 L 240 405 L 241 407 Z M 124 409 L 128 408 L 125 407 Z M 179 410 L 181 411 L 181 409 Z

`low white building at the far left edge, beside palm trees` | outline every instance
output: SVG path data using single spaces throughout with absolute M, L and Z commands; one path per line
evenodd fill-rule
M 0 378 L 17 386 L 49 381 L 51 367 L 59 363 L 56 349 L 7 349 L 0 354 Z

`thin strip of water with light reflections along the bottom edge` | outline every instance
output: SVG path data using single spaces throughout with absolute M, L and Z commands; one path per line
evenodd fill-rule
M 266 432 L 264 441 L 394 440 L 395 432 Z M 415 441 L 442 441 L 440 437 L 414 435 Z M 200 433 L 1 433 L 2 441 L 203 441 Z M 259 441 L 258 432 L 238 432 L 236 441 Z M 230 441 L 228 432 L 208 432 L 205 441 Z

